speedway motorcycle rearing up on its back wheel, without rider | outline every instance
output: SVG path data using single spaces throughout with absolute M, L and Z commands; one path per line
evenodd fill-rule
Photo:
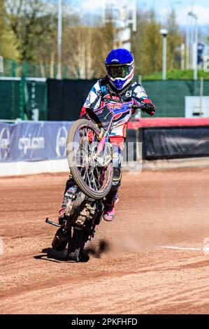
M 133 102 L 108 100 L 100 109 L 87 109 L 87 119 L 82 118 L 69 130 L 66 139 L 66 156 L 75 193 L 66 205 L 65 220 L 52 241 L 52 248 L 64 251 L 69 260 L 84 259 L 87 241 L 94 237 L 103 216 L 103 200 L 110 191 L 113 179 L 113 152 L 110 134 L 117 125 L 128 121 L 134 109 Z

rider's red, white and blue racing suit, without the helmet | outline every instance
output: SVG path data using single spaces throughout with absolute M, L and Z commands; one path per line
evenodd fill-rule
M 138 108 L 144 109 L 145 104 L 152 104 L 150 99 L 147 98 L 147 94 L 142 85 L 139 85 L 135 81 L 131 81 L 127 87 L 124 87 L 123 90 L 113 89 L 113 86 L 110 85 L 108 78 L 102 78 L 97 80 L 95 85 L 90 90 L 85 104 L 82 107 L 80 118 L 87 118 L 86 109 L 90 108 L 92 110 L 99 109 L 105 105 L 107 101 L 113 100 L 113 102 L 120 103 L 130 103 Z M 153 104 L 152 104 L 153 105 Z M 154 114 L 154 108 L 151 111 L 146 111 L 148 114 Z M 110 134 L 110 142 L 113 146 L 113 186 L 110 189 L 110 192 L 104 200 L 104 205 L 111 207 L 117 199 L 117 191 L 121 183 L 121 167 L 122 167 L 122 149 L 124 146 L 124 139 L 127 134 L 127 125 L 131 116 L 135 113 L 136 110 L 131 109 L 130 111 L 120 114 L 118 118 L 114 120 L 113 130 Z M 69 198 L 75 193 L 75 183 L 72 178 L 66 182 L 66 190 L 64 193 L 64 200 L 62 202 L 62 208 L 59 211 L 59 218 L 64 216 L 64 211 L 66 209 L 66 204 L 69 202 Z

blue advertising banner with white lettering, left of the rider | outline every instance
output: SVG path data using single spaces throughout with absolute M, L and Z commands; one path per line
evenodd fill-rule
M 66 158 L 71 122 L 0 123 L 0 162 Z

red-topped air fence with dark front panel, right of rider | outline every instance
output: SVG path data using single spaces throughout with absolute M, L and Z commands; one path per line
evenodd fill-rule
M 134 139 L 144 160 L 208 157 L 209 118 L 140 118 L 128 125 Z

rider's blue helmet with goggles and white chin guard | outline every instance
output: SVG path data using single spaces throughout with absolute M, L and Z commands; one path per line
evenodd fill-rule
M 117 90 L 128 85 L 134 77 L 134 56 L 127 49 L 111 50 L 105 64 L 110 83 Z

